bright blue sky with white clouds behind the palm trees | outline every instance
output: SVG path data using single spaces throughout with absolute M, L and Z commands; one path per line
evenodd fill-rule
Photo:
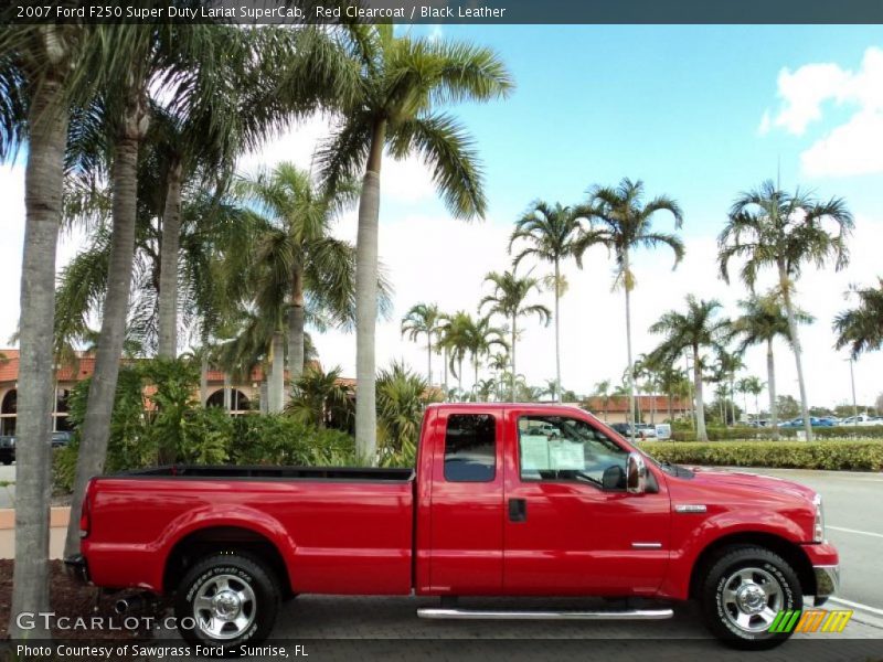
M 406 28 L 400 29 L 402 31 Z M 850 401 L 847 354 L 833 350 L 831 319 L 850 301 L 851 284 L 883 276 L 883 28 L 881 26 L 414 26 L 430 39 L 467 40 L 493 47 L 517 88 L 487 105 L 457 105 L 481 156 L 489 200 L 481 222 L 453 218 L 426 169 L 416 159 L 387 158 L 381 178 L 380 255 L 394 295 L 394 311 L 377 327 L 377 365 L 402 359 L 426 371 L 426 350 L 401 338 L 400 320 L 417 302 L 475 313 L 489 270 L 510 266 L 512 223 L 533 200 L 574 204 L 594 184 L 624 177 L 642 180 L 648 196 L 668 194 L 684 211 L 687 256 L 672 270 L 670 252 L 639 250 L 632 295 L 635 354 L 659 338 L 647 330 L 684 297 L 719 299 L 723 316 L 738 313 L 747 295 L 737 280 L 717 278 L 716 236 L 734 197 L 765 179 L 786 190 L 842 196 L 855 216 L 850 265 L 840 273 L 807 267 L 798 302 L 816 317 L 801 330 L 810 404 Z M 329 130 L 315 118 L 245 156 L 249 172 L 283 160 L 309 168 Z M 0 241 L 0 340 L 18 320 L 23 239 L 23 168 L 0 169 L 4 229 Z M 660 214 L 660 231 L 673 229 Z M 355 237 L 355 214 L 334 226 Z M 77 238 L 60 247 L 58 265 L 75 254 Z M 618 383 L 626 365 L 625 301 L 611 290 L 613 260 L 604 249 L 587 255 L 584 269 L 564 268 L 570 288 L 562 299 L 562 382 L 589 393 L 602 380 Z M 534 275 L 549 273 L 536 265 Z M 764 284 L 772 284 L 766 278 Z M 535 297 L 551 307 L 552 293 Z M 518 372 L 531 384 L 554 377 L 554 331 L 522 322 Z M 326 367 L 354 375 L 355 339 L 313 333 Z M 0 343 L 1 344 L 1 343 Z M 745 375 L 766 378 L 762 348 L 748 350 Z M 776 346 L 777 391 L 798 395 L 794 356 Z M 434 357 L 434 382 L 442 360 Z M 471 381 L 466 371 L 464 385 Z M 883 354 L 854 365 L 860 402 L 883 392 Z M 451 377 L 453 380 L 453 377 Z M 766 397 L 765 395 L 763 396 Z M 753 408 L 749 406 L 749 408 Z

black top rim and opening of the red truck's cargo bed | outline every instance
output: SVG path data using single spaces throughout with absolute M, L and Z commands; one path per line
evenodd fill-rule
M 248 479 L 248 480 L 359 480 L 383 482 L 408 482 L 414 479 L 413 469 L 376 469 L 373 467 L 273 467 L 232 465 L 168 465 L 149 469 L 135 469 L 103 478 L 198 478 L 198 479 Z

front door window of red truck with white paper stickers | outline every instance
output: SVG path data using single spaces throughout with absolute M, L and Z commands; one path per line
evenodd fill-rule
M 626 488 L 628 451 L 575 418 L 523 416 L 518 421 L 522 480 L 576 480 Z

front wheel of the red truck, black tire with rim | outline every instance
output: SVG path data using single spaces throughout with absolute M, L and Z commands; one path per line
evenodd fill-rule
M 778 554 L 753 546 L 733 547 L 717 557 L 702 580 L 700 599 L 712 634 L 740 650 L 783 644 L 791 633 L 769 632 L 772 615 L 804 608 L 794 568 Z

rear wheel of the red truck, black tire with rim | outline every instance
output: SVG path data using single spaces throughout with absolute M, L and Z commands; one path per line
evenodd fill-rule
M 264 641 L 273 630 L 280 601 L 277 586 L 273 570 L 255 556 L 206 556 L 178 587 L 178 631 L 194 647 L 212 647 L 217 656 L 236 656 L 240 644 Z M 202 616 L 199 622 L 196 615 Z

